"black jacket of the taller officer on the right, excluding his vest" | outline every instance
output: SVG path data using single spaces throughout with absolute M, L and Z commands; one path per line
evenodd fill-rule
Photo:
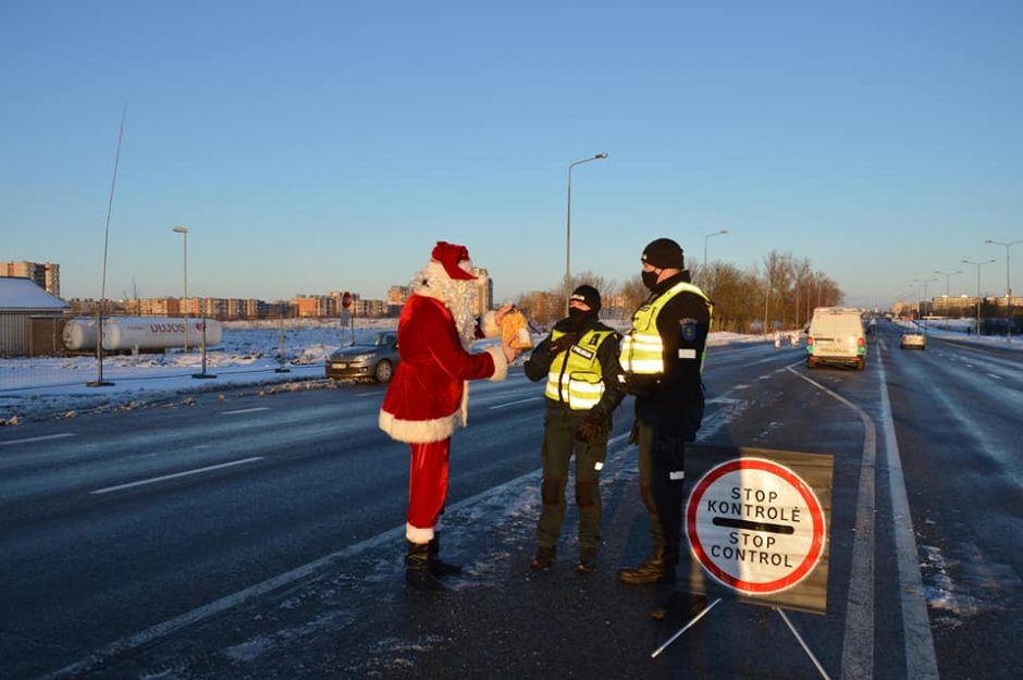
M 689 282 L 689 272 L 682 271 L 657 284 L 644 304 L 650 304 L 679 282 Z M 683 327 L 694 326 L 695 333 L 687 339 Z M 711 332 L 711 309 L 706 300 L 694 293 L 679 293 L 657 316 L 657 332 L 664 344 L 664 373 L 656 376 L 637 376 L 636 417 L 665 434 L 695 436 L 703 418 L 703 381 L 701 366 Z M 679 350 L 694 349 L 695 357 L 680 357 Z

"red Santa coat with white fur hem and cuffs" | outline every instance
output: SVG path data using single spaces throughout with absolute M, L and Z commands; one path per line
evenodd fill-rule
M 466 381 L 504 380 L 508 371 L 501 347 L 469 354 L 447 307 L 418 293 L 398 319 L 398 356 L 380 409 L 380 429 L 399 442 L 449 437 L 466 423 Z

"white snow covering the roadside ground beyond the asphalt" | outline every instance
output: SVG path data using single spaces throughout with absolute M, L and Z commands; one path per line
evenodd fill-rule
M 912 322 L 897 323 L 913 325 Z M 611 325 L 624 331 L 628 321 L 611 322 Z M 926 332 L 933 336 L 1023 348 L 1023 342 L 1018 338 L 1009 344 L 1004 337 L 967 335 L 966 329 L 973 329 L 969 319 L 953 319 L 948 325 L 945 330 L 944 321 L 927 321 Z M 227 321 L 223 324 L 221 344 L 207 351 L 206 372 L 217 376 L 212 380 L 193 378 L 202 371 L 197 350 L 107 356 L 103 380 L 113 385 L 104 387 L 86 385 L 99 374 L 95 355 L 0 359 L 0 425 L 71 418 L 85 412 L 131 410 L 174 399 L 187 403 L 196 393 L 246 386 L 259 386 L 268 392 L 331 387 L 332 383 L 323 376 L 323 363 L 331 351 L 350 344 L 353 338 L 370 341 L 375 333 L 393 331 L 396 326 L 396 319 L 358 320 L 355 329 L 343 329 L 337 321 L 316 319 L 289 319 L 283 326 L 275 320 Z M 541 338 L 542 335 L 535 335 L 534 342 Z M 773 341 L 773 337 L 712 333 L 710 345 L 765 339 Z M 479 345 L 492 342 L 482 341 Z M 278 372 L 282 367 L 286 367 L 287 372 Z

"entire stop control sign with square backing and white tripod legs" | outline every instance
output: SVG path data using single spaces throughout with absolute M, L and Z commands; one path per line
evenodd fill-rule
M 828 529 L 834 458 L 759 448 L 693 445 L 687 471 L 701 473 L 686 503 L 693 561 L 689 590 L 731 593 L 781 617 L 823 678 L 821 663 L 784 608 L 827 609 Z M 703 578 L 706 574 L 710 580 Z M 653 652 L 669 644 L 722 602 L 714 602 Z

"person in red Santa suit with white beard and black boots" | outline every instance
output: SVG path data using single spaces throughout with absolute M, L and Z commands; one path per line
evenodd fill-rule
M 488 312 L 478 326 L 472 301 L 481 283 L 465 246 L 437 242 L 402 308 L 400 360 L 380 409 L 380 429 L 411 449 L 405 582 L 420 591 L 443 591 L 439 577 L 461 572 L 441 560 L 436 526 L 447 497 L 451 436 L 467 423 L 467 383 L 504 380 L 519 353 L 504 343 L 469 353 L 480 329 L 488 337 L 500 335 L 508 311 Z

